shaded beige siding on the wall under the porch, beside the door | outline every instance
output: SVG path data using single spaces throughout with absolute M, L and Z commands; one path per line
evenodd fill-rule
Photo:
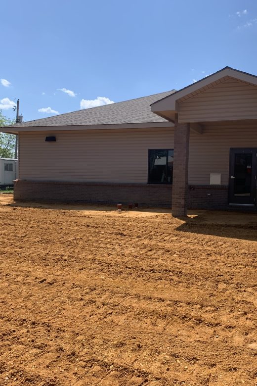
M 221 173 L 221 184 L 228 185 L 230 147 L 257 147 L 257 124 L 213 124 L 203 134 L 191 131 L 189 184 L 210 185 L 210 173 Z

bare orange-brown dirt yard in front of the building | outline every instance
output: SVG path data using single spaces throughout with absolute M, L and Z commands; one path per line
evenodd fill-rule
M 257 385 L 256 215 L 11 199 L 0 385 Z

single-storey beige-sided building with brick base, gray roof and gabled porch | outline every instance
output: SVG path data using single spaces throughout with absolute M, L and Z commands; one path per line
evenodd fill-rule
M 19 134 L 16 200 L 256 210 L 257 77 L 230 67 L 1 131 Z

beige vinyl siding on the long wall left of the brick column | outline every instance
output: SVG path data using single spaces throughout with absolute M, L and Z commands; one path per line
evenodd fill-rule
M 19 178 L 147 183 L 148 149 L 173 148 L 173 136 L 173 128 L 21 133 Z

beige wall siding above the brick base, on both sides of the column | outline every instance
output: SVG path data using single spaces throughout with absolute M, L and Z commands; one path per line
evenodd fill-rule
M 148 149 L 173 148 L 173 128 L 20 134 L 19 178 L 39 181 L 147 183 Z M 56 135 L 46 143 L 46 135 Z M 257 147 L 257 125 L 212 124 L 190 131 L 189 184 L 228 184 L 230 147 Z

